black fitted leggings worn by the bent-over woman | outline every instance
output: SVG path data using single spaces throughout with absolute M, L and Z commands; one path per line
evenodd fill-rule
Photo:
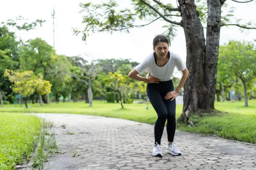
M 172 80 L 147 84 L 148 98 L 157 113 L 154 134 L 155 143 L 157 142 L 159 145 L 161 144 L 166 119 L 168 141 L 173 142 L 174 140 L 176 130 L 176 100 L 174 99 L 171 101 L 171 99 L 164 99 L 164 96 L 170 91 L 174 91 Z

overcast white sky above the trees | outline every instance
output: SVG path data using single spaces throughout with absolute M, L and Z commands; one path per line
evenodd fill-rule
M 87 42 L 82 38 L 73 35 L 73 27 L 81 27 L 82 15 L 79 14 L 79 3 L 87 3 L 89 0 L 5 0 L 1 2 L 0 18 L 1 21 L 15 18 L 19 15 L 29 20 L 43 19 L 46 22 L 42 28 L 29 32 L 21 32 L 23 40 L 41 37 L 50 45 L 53 45 L 53 20 L 51 13 L 55 7 L 55 49 L 57 54 L 67 56 L 89 54 L 94 59 L 98 58 L 130 58 L 133 61 L 141 62 L 149 53 L 152 52 L 152 40 L 155 35 L 163 32 L 162 21 L 152 23 L 144 28 L 134 28 L 130 33 L 115 32 L 95 33 L 91 35 Z M 93 0 L 94 3 L 107 2 L 107 0 Z M 127 5 L 130 0 L 117 0 L 122 5 Z M 162 0 L 173 5 L 176 0 Z M 256 0 L 250 3 L 236 3 L 227 0 L 230 6 L 236 7 L 236 18 L 245 19 L 256 23 Z M 239 6 L 239 7 L 238 7 Z M 239 28 L 230 26 L 221 28 L 220 45 L 229 40 L 249 40 L 256 39 L 256 30 L 241 32 Z M 171 50 L 176 52 L 186 60 L 186 45 L 184 32 L 178 28 L 177 36 L 171 42 Z M 86 57 L 85 57 L 86 58 Z M 91 58 L 87 58 L 90 60 Z

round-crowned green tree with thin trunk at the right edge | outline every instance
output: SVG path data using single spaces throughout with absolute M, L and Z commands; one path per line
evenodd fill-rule
M 230 41 L 220 48 L 220 58 L 226 72 L 233 73 L 243 82 L 244 102 L 248 106 L 247 87 L 256 78 L 256 47 L 252 42 Z

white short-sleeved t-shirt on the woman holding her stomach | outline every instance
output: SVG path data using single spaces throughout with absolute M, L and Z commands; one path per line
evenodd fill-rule
M 169 51 L 170 52 L 170 51 Z M 161 81 L 172 80 L 172 74 L 174 67 L 177 67 L 177 70 L 183 71 L 186 68 L 186 64 L 182 62 L 182 59 L 179 55 L 174 52 L 170 52 L 170 58 L 168 62 L 163 67 L 158 67 L 154 59 L 154 52 L 152 52 L 145 60 L 138 64 L 134 69 L 138 73 L 148 72 L 152 76 L 159 78 Z

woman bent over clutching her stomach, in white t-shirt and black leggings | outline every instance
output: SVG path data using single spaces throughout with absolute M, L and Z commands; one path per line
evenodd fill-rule
M 169 51 L 169 41 L 164 35 L 157 35 L 153 40 L 154 52 L 148 55 L 143 62 L 134 67 L 128 76 L 134 80 L 147 82 L 147 95 L 156 110 L 157 120 L 154 127 L 155 143 L 152 155 L 163 156 L 161 150 L 161 138 L 164 132 L 164 125 L 167 119 L 168 145 L 166 152 L 172 155 L 181 155 L 181 152 L 174 146 L 174 134 L 176 130 L 176 101 L 181 88 L 187 80 L 188 70 L 181 58 L 174 52 Z M 172 74 L 174 67 L 182 71 L 183 75 L 178 87 L 174 90 Z M 148 72 L 146 77 L 138 74 Z

